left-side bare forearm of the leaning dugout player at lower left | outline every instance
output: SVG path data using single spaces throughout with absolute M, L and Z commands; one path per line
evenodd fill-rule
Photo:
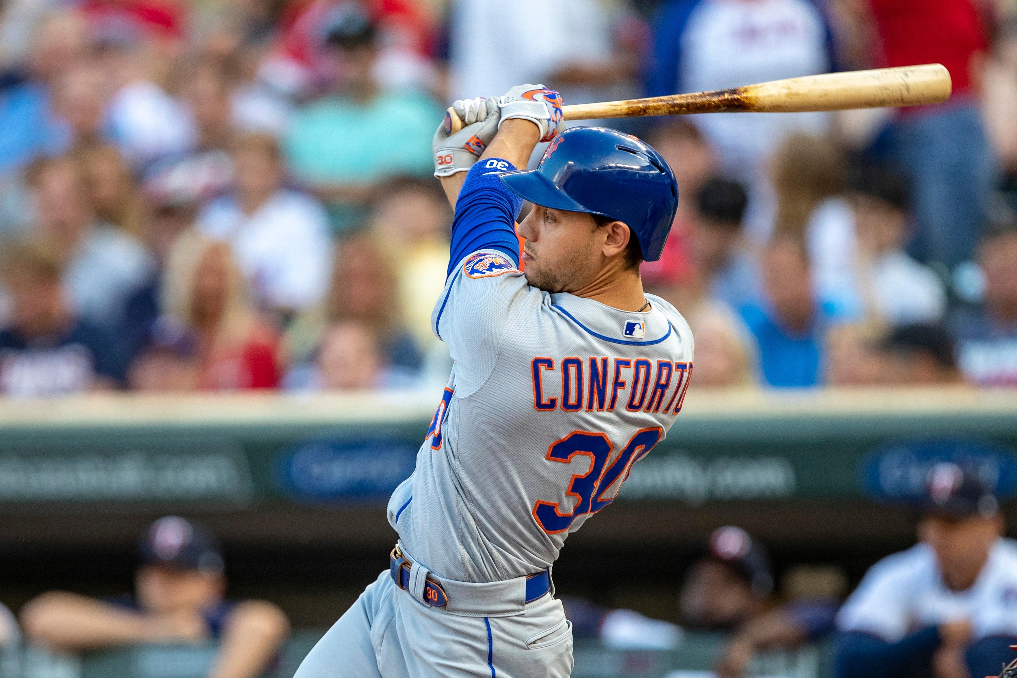
M 89 650 L 157 639 L 144 615 L 67 593 L 40 596 L 21 612 L 29 638 L 63 650 Z

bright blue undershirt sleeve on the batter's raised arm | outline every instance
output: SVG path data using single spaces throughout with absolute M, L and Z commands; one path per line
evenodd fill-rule
M 452 222 L 446 274 L 452 274 L 467 254 L 483 249 L 504 252 L 519 266 L 516 219 L 523 208 L 523 198 L 500 179 L 502 173 L 515 169 L 508 161 L 485 158 L 466 175 Z

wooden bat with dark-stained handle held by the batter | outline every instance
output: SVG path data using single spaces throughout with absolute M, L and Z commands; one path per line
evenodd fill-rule
M 561 108 L 565 120 L 691 113 L 798 113 L 939 104 L 950 98 L 950 72 L 942 64 L 824 73 L 746 84 L 730 89 L 629 99 Z M 450 133 L 463 128 L 451 108 Z

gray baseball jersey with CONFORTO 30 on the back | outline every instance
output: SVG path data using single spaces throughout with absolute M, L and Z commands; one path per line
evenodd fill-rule
M 460 261 L 431 315 L 455 365 L 388 502 L 408 554 L 460 581 L 533 574 L 614 499 L 692 374 L 687 323 L 647 298 L 636 313 L 549 294 L 495 249 Z

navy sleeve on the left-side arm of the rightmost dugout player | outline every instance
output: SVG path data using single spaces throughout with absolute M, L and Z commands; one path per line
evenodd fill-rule
M 837 639 L 834 675 L 837 678 L 898 678 L 915 667 L 932 665 L 940 646 L 940 629 L 929 626 L 897 641 L 863 631 L 847 631 Z

